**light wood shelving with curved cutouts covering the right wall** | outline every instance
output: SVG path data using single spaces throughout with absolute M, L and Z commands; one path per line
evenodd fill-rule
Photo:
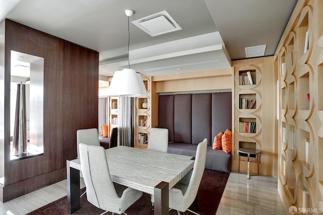
M 281 74 L 278 189 L 286 213 L 292 205 L 304 207 L 304 192 L 306 207 L 323 207 L 322 23 L 323 1 L 298 1 L 275 53 Z

